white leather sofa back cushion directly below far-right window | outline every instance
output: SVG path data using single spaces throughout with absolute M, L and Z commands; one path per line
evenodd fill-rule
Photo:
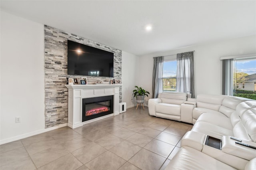
M 242 97 L 226 96 L 222 101 L 219 112 L 223 113 L 227 117 L 230 117 L 230 115 L 236 110 L 236 106 L 246 100 L 248 99 Z

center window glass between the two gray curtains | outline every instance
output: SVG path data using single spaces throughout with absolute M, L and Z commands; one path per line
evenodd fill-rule
M 163 91 L 176 91 L 177 61 L 164 61 Z

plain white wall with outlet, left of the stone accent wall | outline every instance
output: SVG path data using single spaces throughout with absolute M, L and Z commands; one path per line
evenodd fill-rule
M 5 143 L 44 129 L 44 25 L 1 11 L 0 48 L 0 143 Z

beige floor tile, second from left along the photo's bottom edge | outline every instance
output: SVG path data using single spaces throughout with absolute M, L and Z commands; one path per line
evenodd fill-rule
M 83 164 L 79 160 L 69 153 L 44 166 L 41 166 L 38 170 L 76 170 L 82 165 Z

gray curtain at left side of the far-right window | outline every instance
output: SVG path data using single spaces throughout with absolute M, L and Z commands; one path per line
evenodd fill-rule
M 233 62 L 234 59 L 222 60 L 222 95 L 233 96 Z

